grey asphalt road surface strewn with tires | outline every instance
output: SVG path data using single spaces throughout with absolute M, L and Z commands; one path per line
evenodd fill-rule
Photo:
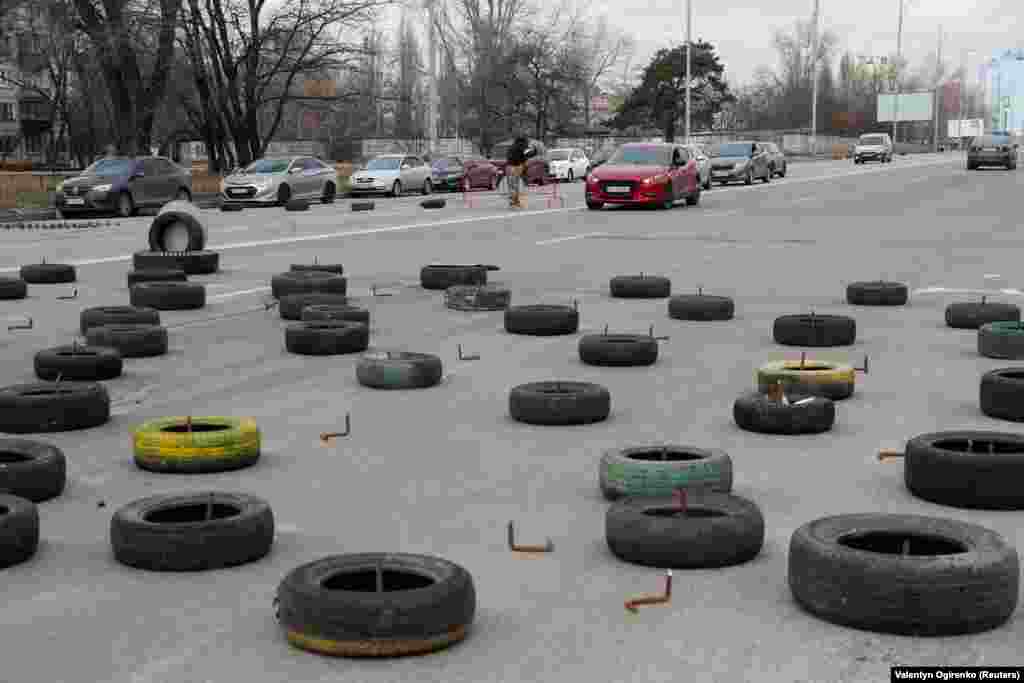
M 1024 541 L 1019 513 L 968 512 L 912 498 L 902 466 L 876 460 L 928 431 L 1016 431 L 984 417 L 978 381 L 1009 365 L 977 355 L 975 334 L 946 329 L 943 309 L 972 290 L 1013 290 L 1020 302 L 1020 193 L 1024 174 L 967 172 L 961 156 L 897 158 L 890 165 L 794 164 L 768 184 L 719 188 L 672 211 L 583 208 L 531 190 L 512 211 L 501 196 L 449 196 L 439 211 L 419 198 L 348 202 L 309 212 L 208 212 L 222 271 L 203 310 L 164 312 L 168 355 L 127 360 L 108 384 L 114 417 L 102 427 L 40 435 L 65 450 L 69 484 L 42 503 L 38 555 L 0 571 L 3 676 L 17 683 L 131 681 L 880 681 L 894 665 L 1020 664 L 1024 620 L 963 638 L 914 639 L 853 631 L 802 612 L 786 587 L 790 537 L 839 513 L 903 512 L 970 520 Z M 551 205 L 551 206 L 548 206 Z M 131 253 L 150 218 L 87 232 L 0 232 L 0 271 L 24 263 L 78 264 L 76 286 L 30 286 L 0 302 L 0 317 L 34 318 L 0 337 L 0 384 L 33 381 L 39 349 L 69 343 L 87 306 L 127 304 Z M 355 356 L 305 357 L 284 349 L 285 322 L 264 310 L 269 280 L 292 263 L 344 263 L 349 291 L 373 315 L 371 345 L 439 354 L 437 387 L 360 387 Z M 502 313 L 444 308 L 419 288 L 430 262 L 496 263 L 490 281 L 514 304 L 578 300 L 581 334 L 669 335 L 658 362 L 598 369 L 577 355 L 579 336 L 507 335 Z M 729 295 L 736 318 L 668 317 L 666 301 L 610 299 L 608 280 L 643 271 L 674 293 Z M 993 276 L 994 275 L 994 276 Z M 846 284 L 896 280 L 904 308 L 852 308 Z M 393 296 L 373 298 L 377 286 Z M 78 288 L 77 300 L 56 296 Z M 948 290 L 948 291 L 946 291 Z M 732 402 L 758 366 L 799 357 L 771 338 L 772 321 L 814 310 L 856 317 L 850 348 L 816 358 L 859 364 L 854 396 L 837 403 L 830 433 L 772 437 L 743 432 Z M 852 312 L 851 312 L 852 311 Z M 460 361 L 456 345 L 479 353 Z M 795 353 L 796 351 L 796 353 Z M 546 379 L 599 382 L 607 422 L 530 427 L 508 417 L 509 389 Z M 317 435 L 352 433 L 324 447 Z M 201 476 L 135 468 L 130 429 L 172 415 L 254 417 L 264 455 L 253 468 Z M 727 569 L 677 571 L 668 607 L 629 616 L 623 601 L 657 591 L 662 572 L 615 559 L 604 542 L 607 507 L 597 486 L 603 449 L 672 441 L 725 449 L 735 493 L 761 507 L 762 554 Z M 899 461 L 896 461 L 897 463 Z M 109 541 L 119 507 L 155 493 L 241 490 L 267 499 L 276 541 L 262 561 L 203 573 L 151 573 L 117 564 Z M 104 507 L 97 504 L 102 501 Z M 551 537 L 555 552 L 523 558 L 505 545 Z M 293 567 L 343 552 L 435 554 L 466 566 L 477 589 L 469 638 L 450 650 L 394 660 L 332 659 L 291 648 L 273 617 L 278 584 Z

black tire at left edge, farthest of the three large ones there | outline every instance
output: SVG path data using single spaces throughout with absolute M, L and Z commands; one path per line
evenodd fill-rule
M 111 419 L 111 396 L 95 382 L 18 384 L 0 388 L 0 432 L 41 434 L 98 427 Z

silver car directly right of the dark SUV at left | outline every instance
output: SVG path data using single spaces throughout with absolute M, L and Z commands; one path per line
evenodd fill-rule
M 229 204 L 331 204 L 338 196 L 338 171 L 312 157 L 267 157 L 231 172 L 220 182 L 220 196 Z

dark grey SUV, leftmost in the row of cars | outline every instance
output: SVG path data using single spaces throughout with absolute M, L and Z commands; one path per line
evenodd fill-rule
M 57 185 L 63 215 L 113 212 L 121 217 L 173 200 L 191 200 L 191 172 L 164 157 L 106 157 Z

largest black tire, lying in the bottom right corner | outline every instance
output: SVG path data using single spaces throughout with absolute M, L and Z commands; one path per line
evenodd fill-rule
M 842 626 L 953 636 L 1004 624 L 1017 606 L 1017 551 L 977 524 L 894 514 L 824 517 L 790 541 L 793 597 Z

